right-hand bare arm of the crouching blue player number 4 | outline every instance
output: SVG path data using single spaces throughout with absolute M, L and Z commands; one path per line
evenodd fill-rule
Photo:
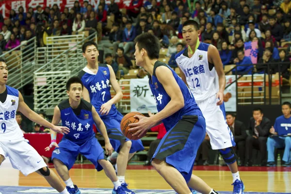
M 100 133 L 104 138 L 106 154 L 111 155 L 113 152 L 113 147 L 110 144 L 106 127 L 103 121 L 101 120 L 99 114 L 96 112 L 96 109 L 94 108 L 94 106 L 92 106 L 92 116 L 93 116 L 94 122 L 96 123 L 97 128 L 100 130 Z

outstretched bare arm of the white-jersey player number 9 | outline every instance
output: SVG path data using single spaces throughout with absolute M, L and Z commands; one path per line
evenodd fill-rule
M 24 102 L 24 99 L 21 95 L 20 92 L 18 92 L 18 96 L 19 96 L 19 105 L 18 105 L 18 110 L 23 113 L 27 118 L 29 118 L 31 121 L 33 121 L 34 123 L 37 123 L 39 125 L 43 125 L 53 131 L 62 133 L 62 134 L 68 134 L 68 132 L 70 132 L 70 130 L 67 127 L 59 127 L 59 126 L 55 126 L 51 123 L 49 123 L 49 121 L 47 121 L 46 119 L 42 118 L 40 115 L 38 115 L 37 113 L 35 113 L 34 111 L 32 111 L 27 104 Z

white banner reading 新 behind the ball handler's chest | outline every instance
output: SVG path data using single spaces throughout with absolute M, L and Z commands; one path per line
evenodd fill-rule
M 130 112 L 157 113 L 157 105 L 148 79 L 130 80 Z

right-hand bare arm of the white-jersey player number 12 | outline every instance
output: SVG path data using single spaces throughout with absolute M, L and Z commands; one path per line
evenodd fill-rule
M 219 82 L 219 91 L 216 94 L 216 97 L 219 98 L 217 101 L 217 105 L 221 105 L 223 103 L 223 95 L 226 87 L 226 75 L 223 70 L 223 64 L 221 62 L 221 58 L 218 50 L 213 45 L 210 45 L 208 48 L 208 61 L 214 65 L 215 70 L 218 75 Z M 211 54 L 210 54 L 211 53 Z

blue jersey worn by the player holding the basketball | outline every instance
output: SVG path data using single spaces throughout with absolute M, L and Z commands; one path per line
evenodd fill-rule
M 157 61 L 155 63 L 153 75 L 149 79 L 149 86 L 156 100 L 158 112 L 162 111 L 171 100 L 171 98 L 169 97 L 165 89 L 163 88 L 162 84 L 159 82 L 159 80 L 156 77 L 155 71 L 156 71 L 156 68 L 159 66 L 166 66 L 172 71 L 174 78 L 177 81 L 178 85 L 180 86 L 180 89 L 184 97 L 184 107 L 180 109 L 178 112 L 162 120 L 166 130 L 168 131 L 172 127 L 174 127 L 174 125 L 176 125 L 176 123 L 182 118 L 182 116 L 203 115 L 199 107 L 197 106 L 195 99 L 192 93 L 190 92 L 189 88 L 187 87 L 187 85 L 182 81 L 182 79 L 177 75 L 177 73 L 172 68 L 170 68 L 168 65 L 160 61 Z

